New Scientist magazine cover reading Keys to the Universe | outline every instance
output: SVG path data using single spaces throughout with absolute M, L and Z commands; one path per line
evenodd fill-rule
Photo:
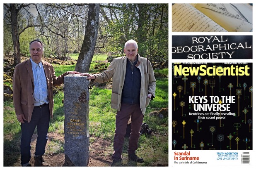
M 172 63 L 172 164 L 250 165 L 252 63 Z

